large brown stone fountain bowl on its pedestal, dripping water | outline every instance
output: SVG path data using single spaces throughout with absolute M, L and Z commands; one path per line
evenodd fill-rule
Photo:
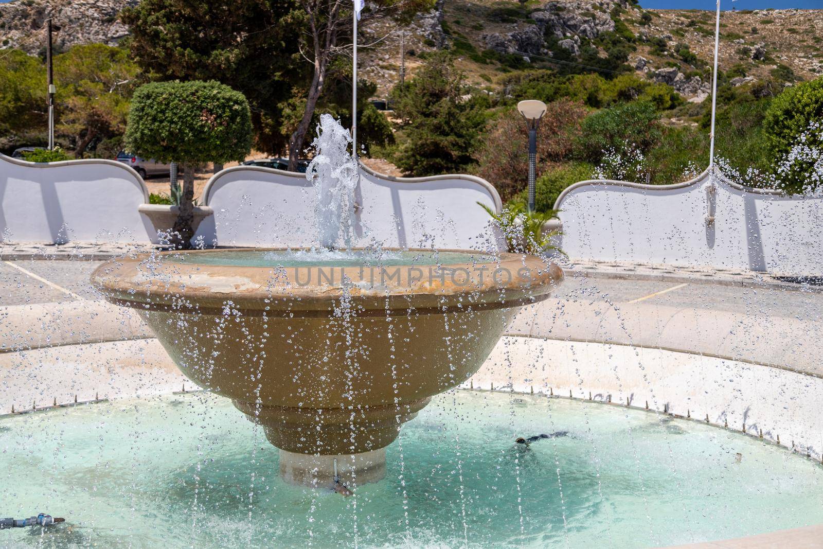
M 231 398 L 272 444 L 331 456 L 300 471 L 284 455 L 284 477 L 311 484 L 352 454 L 367 455 L 343 476 L 378 480 L 377 450 L 476 372 L 514 311 L 562 276 L 520 254 L 217 249 L 112 261 L 92 282 L 137 309 L 180 370 Z

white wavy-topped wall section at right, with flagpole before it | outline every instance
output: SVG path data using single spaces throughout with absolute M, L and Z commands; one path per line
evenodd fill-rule
M 714 183 L 574 184 L 555 204 L 560 246 L 574 259 L 823 274 L 823 198 Z

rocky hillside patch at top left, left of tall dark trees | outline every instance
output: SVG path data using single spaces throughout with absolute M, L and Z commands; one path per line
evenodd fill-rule
M 44 23 L 53 18 L 59 27 L 53 35 L 58 51 L 74 44 L 101 42 L 114 45 L 128 35 L 118 21 L 123 7 L 139 0 L 14 0 L 0 4 L 2 48 L 23 49 L 36 54 L 45 47 Z

